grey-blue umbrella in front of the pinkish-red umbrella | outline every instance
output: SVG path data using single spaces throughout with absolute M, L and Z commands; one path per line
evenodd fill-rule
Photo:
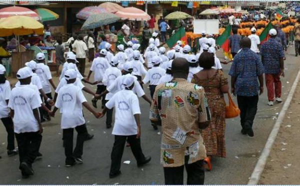
M 107 25 L 118 21 L 120 17 L 113 13 L 97 13 L 90 15 L 83 23 L 81 30 L 93 29 L 99 26 Z

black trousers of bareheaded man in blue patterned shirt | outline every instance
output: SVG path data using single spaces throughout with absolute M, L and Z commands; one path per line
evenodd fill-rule
M 240 125 L 243 129 L 252 127 L 257 111 L 258 95 L 241 96 L 237 95 L 237 104 L 240 109 Z

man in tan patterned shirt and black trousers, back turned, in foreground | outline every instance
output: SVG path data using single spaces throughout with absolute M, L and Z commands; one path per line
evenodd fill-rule
M 183 168 L 187 184 L 204 184 L 203 159 L 206 150 L 200 129 L 211 118 L 204 88 L 186 81 L 188 62 L 178 57 L 172 61 L 172 81 L 156 86 L 149 118 L 161 118 L 162 139 L 160 162 L 165 184 L 183 184 Z

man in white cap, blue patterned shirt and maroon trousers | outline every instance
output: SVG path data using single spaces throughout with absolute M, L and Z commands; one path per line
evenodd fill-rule
M 274 86 L 275 86 L 275 101 L 281 102 L 281 81 L 280 76 L 284 76 L 283 57 L 284 51 L 280 43 L 275 39 L 277 31 L 272 28 L 269 31 L 270 38 L 260 47 L 260 55 L 264 66 L 265 84 L 267 89 L 267 104 L 273 105 L 274 101 Z

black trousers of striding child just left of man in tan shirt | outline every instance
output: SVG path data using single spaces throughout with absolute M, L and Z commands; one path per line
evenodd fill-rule
M 142 153 L 140 146 L 140 138 L 137 139 L 136 135 L 114 135 L 114 143 L 110 156 L 111 166 L 109 174 L 118 173 L 118 171 L 120 170 L 126 138 L 128 138 L 131 151 L 135 157 L 137 164 L 140 164 L 145 160 L 145 156 Z

